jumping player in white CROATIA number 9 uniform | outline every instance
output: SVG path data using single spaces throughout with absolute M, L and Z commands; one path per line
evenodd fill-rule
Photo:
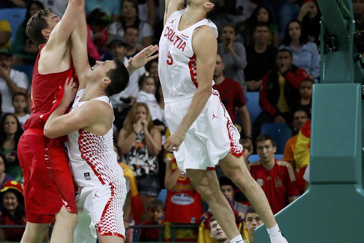
M 165 115 L 172 135 L 163 143 L 174 151 L 231 243 L 242 242 L 235 218 L 219 190 L 214 166 L 244 192 L 268 228 L 271 242 L 286 243 L 268 200 L 245 166 L 240 135 L 212 90 L 217 28 L 208 16 L 223 0 L 166 0 L 164 30 L 159 42 L 158 72 L 165 97 Z

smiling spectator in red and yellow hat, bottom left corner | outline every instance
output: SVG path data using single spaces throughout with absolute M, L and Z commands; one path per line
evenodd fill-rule
M 16 181 L 7 181 L 0 190 L 0 222 L 5 225 L 26 225 L 23 185 Z M 1 241 L 20 242 L 24 228 L 0 229 Z

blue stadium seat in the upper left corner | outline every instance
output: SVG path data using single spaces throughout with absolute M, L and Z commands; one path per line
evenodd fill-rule
M 11 27 L 11 42 L 15 38 L 18 27 L 25 20 L 26 8 L 3 8 L 0 10 L 0 20 L 7 20 Z

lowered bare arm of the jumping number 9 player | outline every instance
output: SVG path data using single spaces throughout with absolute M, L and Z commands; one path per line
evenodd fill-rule
M 212 80 L 216 65 L 217 40 L 214 31 L 209 26 L 196 28 L 193 33 L 192 47 L 196 54 L 198 88 L 193 96 L 191 105 L 175 131 L 163 143 L 168 151 L 178 151 L 187 130 L 202 112 L 212 92 Z

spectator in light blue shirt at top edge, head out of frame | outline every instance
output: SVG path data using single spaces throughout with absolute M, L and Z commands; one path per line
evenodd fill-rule
M 109 16 L 109 19 L 112 18 L 112 21 L 117 21 L 120 17 L 120 2 L 115 0 L 87 0 L 85 1 L 85 12 L 86 15 L 89 15 L 95 9 L 100 9 Z

